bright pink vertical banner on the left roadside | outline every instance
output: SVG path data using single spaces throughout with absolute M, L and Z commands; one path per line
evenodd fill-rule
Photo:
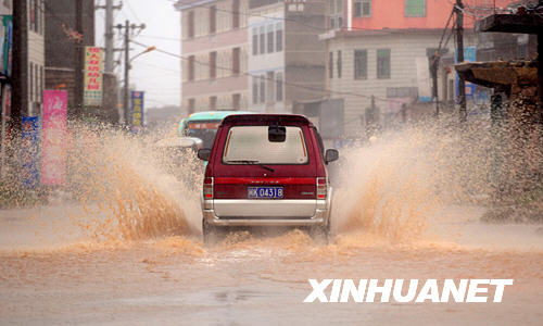
M 43 90 L 41 184 L 64 184 L 66 168 L 67 91 Z

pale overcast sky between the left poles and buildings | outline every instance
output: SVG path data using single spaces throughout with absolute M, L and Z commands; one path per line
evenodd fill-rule
M 118 4 L 121 0 L 114 0 Z M 100 5 L 105 0 L 97 0 Z M 180 54 L 180 17 L 174 9 L 173 0 L 123 0 L 123 10 L 115 12 L 115 25 L 124 24 L 126 20 L 135 24 L 144 23 L 147 28 L 134 40 L 155 46 L 159 49 Z M 98 10 L 97 46 L 104 43 L 104 10 Z M 123 47 L 123 36 L 115 29 L 115 46 Z M 132 45 L 130 57 L 140 53 L 144 48 Z M 122 52 L 115 53 L 115 60 Z M 116 66 L 115 72 L 123 79 L 123 67 Z M 157 51 L 146 53 L 132 62 L 130 84 L 137 90 L 146 91 L 146 106 L 179 105 L 180 102 L 180 63 L 179 59 L 168 57 Z

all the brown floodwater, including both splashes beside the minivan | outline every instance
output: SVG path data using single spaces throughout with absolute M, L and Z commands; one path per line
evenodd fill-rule
M 0 211 L 0 324 L 541 325 L 543 225 L 480 222 L 485 167 L 457 168 L 481 158 L 402 136 L 342 151 L 326 246 L 291 230 L 204 247 L 198 189 L 126 160 L 134 139 L 85 145 L 77 199 Z M 303 303 L 310 278 L 515 283 L 501 303 Z

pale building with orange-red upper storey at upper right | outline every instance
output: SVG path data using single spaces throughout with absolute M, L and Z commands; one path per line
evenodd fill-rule
M 473 48 L 472 11 L 491 9 L 494 2 L 464 3 L 464 46 Z M 359 136 L 368 124 L 387 126 L 405 118 L 406 105 L 432 101 L 430 64 L 453 5 L 430 0 L 399 0 L 394 5 L 389 0 L 329 1 L 329 32 L 320 38 L 328 45 L 330 97 L 343 100 L 345 136 Z M 445 36 L 440 54 L 454 57 L 454 35 Z M 454 78 L 445 76 L 440 97 L 454 93 Z

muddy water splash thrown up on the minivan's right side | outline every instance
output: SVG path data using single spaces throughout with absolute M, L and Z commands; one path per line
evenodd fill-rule
M 504 180 L 509 188 L 526 185 L 526 179 L 507 176 L 510 166 L 518 167 L 526 158 L 500 161 L 506 156 L 507 147 L 501 143 L 506 131 L 496 133 L 487 120 L 455 126 L 453 118 L 409 126 L 369 146 L 342 151 L 336 231 L 416 239 L 428 235 L 442 217 L 439 212 L 449 205 L 495 204 Z M 542 154 L 532 152 L 530 163 L 541 173 Z

